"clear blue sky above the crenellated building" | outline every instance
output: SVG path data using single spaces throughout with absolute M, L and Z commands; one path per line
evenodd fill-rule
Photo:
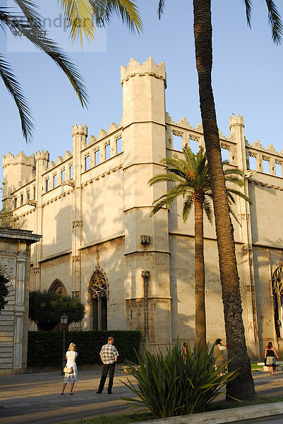
M 44 17 L 59 16 L 56 0 L 41 3 L 45 3 Z M 152 56 L 157 64 L 164 61 L 167 111 L 174 121 L 186 117 L 193 127 L 200 122 L 192 0 L 167 0 L 160 21 L 157 0 L 137 3 L 144 23 L 142 35 L 133 35 L 114 18 L 96 46 L 85 45 L 88 52 L 73 53 L 62 39 L 85 78 L 90 97 L 88 110 L 80 107 L 66 76 L 48 57 L 23 52 L 24 45 L 18 47 L 20 52 L 11 52 L 11 45 L 7 48 L 6 37 L 1 33 L 1 49 L 13 64 L 35 119 L 33 141 L 27 146 L 16 106 L 1 83 L 1 156 L 8 151 L 16 155 L 21 150 L 30 154 L 43 149 L 50 152 L 50 160 L 56 160 L 72 148 L 73 124 L 87 124 L 88 134 L 95 136 L 112 122 L 118 124 L 122 114 L 120 66 L 127 65 L 131 57 L 145 61 Z M 254 0 L 253 4 L 250 30 L 242 0 L 212 0 L 217 123 L 228 136 L 229 115 L 243 114 L 249 143 L 259 139 L 265 148 L 273 144 L 279 152 L 283 149 L 283 47 L 272 43 L 265 1 Z M 277 4 L 283 15 L 282 1 L 277 0 Z M 58 35 L 56 31 L 54 34 Z M 78 45 L 75 49 L 79 50 Z

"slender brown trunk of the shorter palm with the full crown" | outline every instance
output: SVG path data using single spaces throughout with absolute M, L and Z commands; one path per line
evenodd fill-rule
M 195 196 L 195 342 L 206 346 L 205 260 L 203 254 L 203 201 Z

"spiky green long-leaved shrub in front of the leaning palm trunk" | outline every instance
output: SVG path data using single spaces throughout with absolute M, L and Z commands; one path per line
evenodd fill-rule
M 145 351 L 138 357 L 140 368 L 130 365 L 138 388 L 129 380 L 126 386 L 139 399 L 121 398 L 140 408 L 145 406 L 157 418 L 187 415 L 205 411 L 227 382 L 234 379 L 236 371 L 220 377 L 215 370 L 214 346 L 201 351 L 188 346 L 183 351 L 177 341 L 165 354 Z

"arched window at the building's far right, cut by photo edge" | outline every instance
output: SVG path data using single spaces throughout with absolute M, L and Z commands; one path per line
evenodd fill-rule
M 277 338 L 282 338 L 283 322 L 283 266 L 279 265 L 272 274 L 272 294 Z

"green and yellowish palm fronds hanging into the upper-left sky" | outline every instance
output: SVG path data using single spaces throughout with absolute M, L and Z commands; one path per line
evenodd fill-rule
M 78 95 L 80 104 L 83 107 L 88 105 L 88 95 L 83 78 L 59 45 L 46 35 L 44 20 L 37 11 L 36 1 L 14 0 L 14 3 L 15 9 L 0 6 L 0 26 L 2 30 L 11 31 L 14 37 L 25 38 L 37 49 L 47 54 L 66 74 Z M 132 30 L 140 32 L 142 28 L 138 8 L 131 0 L 60 0 L 59 3 L 68 23 L 71 40 L 75 41 L 78 37 L 81 44 L 83 33 L 88 39 L 94 39 L 95 23 L 100 27 L 106 25 L 114 13 L 119 14 Z M 30 107 L 13 73 L 11 64 L 1 52 L 0 78 L 2 78 L 18 108 L 24 139 L 27 142 L 31 141 L 34 126 Z

